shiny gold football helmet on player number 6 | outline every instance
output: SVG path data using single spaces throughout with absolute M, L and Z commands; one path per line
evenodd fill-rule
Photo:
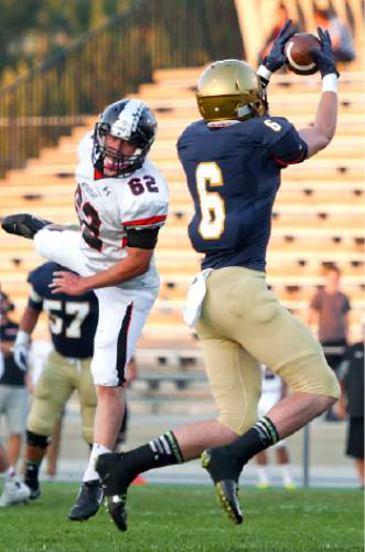
M 197 83 L 196 99 L 207 121 L 245 120 L 266 113 L 258 76 L 239 60 L 217 61 L 206 67 Z

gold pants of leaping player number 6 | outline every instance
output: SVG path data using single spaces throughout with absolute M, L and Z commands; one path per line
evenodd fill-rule
M 196 331 L 218 420 L 238 435 L 257 420 L 260 364 L 292 391 L 340 396 L 320 343 L 282 307 L 261 272 L 241 267 L 213 270 Z

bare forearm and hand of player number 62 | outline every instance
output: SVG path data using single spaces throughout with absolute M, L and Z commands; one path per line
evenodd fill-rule
M 153 250 L 128 247 L 128 256 L 107 270 L 82 277 L 69 272 L 55 272 L 50 287 L 53 294 L 82 295 L 90 289 L 117 286 L 144 274 L 150 266 Z

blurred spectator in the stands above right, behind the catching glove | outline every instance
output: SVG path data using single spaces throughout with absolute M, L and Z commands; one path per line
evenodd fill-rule
M 337 62 L 348 63 L 355 60 L 356 54 L 351 31 L 337 18 L 329 0 L 318 0 L 314 3 L 314 22 L 315 26 L 321 26 L 329 31 Z

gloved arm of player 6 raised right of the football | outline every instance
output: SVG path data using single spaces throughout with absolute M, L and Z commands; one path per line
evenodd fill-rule
M 328 31 L 318 29 L 322 50 L 313 51 L 322 75 L 322 95 L 316 109 L 314 126 L 299 130 L 308 145 L 308 158 L 325 148 L 334 137 L 337 123 L 337 78 L 335 57 Z

